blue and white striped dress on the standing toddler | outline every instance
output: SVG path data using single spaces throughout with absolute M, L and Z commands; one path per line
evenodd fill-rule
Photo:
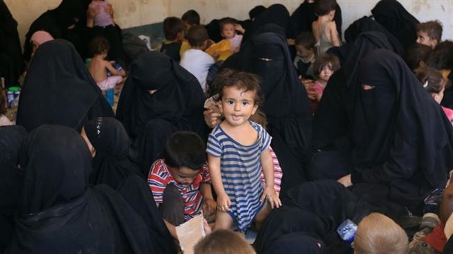
M 260 155 L 269 147 L 272 139 L 261 125 L 249 122 L 258 132 L 258 139 L 253 145 L 241 145 L 217 125 L 209 134 L 206 148 L 208 154 L 220 157 L 222 182 L 231 200 L 229 214 L 239 232 L 249 228 L 263 207 L 259 201 L 263 192 Z

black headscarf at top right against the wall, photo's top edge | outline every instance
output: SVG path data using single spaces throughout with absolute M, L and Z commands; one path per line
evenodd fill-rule
M 371 10 L 374 19 L 396 37 L 403 47 L 417 39 L 415 26 L 420 23 L 397 0 L 381 0 Z

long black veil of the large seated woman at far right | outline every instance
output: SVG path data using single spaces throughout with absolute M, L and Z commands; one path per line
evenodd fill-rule
M 364 56 L 358 81 L 374 88 L 360 89 L 355 101 L 353 183 L 387 184 L 391 200 L 422 203 L 429 191 L 445 187 L 453 166 L 450 121 L 392 51 Z

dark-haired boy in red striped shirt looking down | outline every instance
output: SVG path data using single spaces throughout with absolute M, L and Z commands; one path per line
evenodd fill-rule
M 175 226 L 199 214 L 215 212 L 204 141 L 193 132 L 176 132 L 165 145 L 164 159 L 151 166 L 148 185 L 171 235 Z

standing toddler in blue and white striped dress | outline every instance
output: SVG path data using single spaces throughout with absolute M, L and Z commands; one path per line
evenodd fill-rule
M 209 135 L 206 148 L 217 193 L 215 230 L 236 224 L 239 232 L 245 232 L 253 221 L 259 225 L 274 207 L 282 205 L 274 189 L 271 137 L 261 125 L 249 120 L 262 101 L 259 77 L 224 70 L 217 75 L 215 86 L 225 118 Z

